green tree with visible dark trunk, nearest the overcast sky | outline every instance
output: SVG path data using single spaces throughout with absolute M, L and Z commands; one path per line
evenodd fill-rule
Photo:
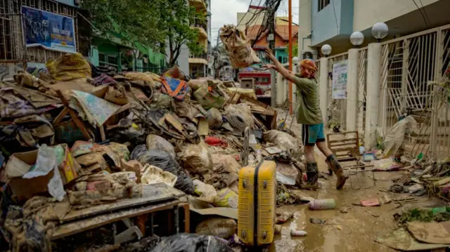
M 153 0 L 155 1 L 155 0 Z M 182 46 L 186 45 L 191 54 L 203 53 L 205 48 L 198 43 L 199 32 L 191 25 L 205 23 L 205 14 L 196 13 L 195 8 L 188 6 L 185 0 L 157 0 L 160 21 L 158 26 L 165 34 L 162 48 L 169 48 L 169 66 L 178 60 Z

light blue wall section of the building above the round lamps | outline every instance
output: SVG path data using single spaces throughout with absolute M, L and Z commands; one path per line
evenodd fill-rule
M 318 1 L 311 0 L 311 44 L 320 44 L 339 34 L 352 34 L 354 0 L 333 0 L 321 11 Z

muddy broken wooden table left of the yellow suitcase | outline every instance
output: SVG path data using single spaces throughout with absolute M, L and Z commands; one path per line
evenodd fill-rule
M 113 224 L 115 227 L 117 222 L 122 222 L 127 230 L 118 234 L 115 230 L 114 245 L 122 244 L 147 235 L 152 236 L 153 216 L 162 211 L 167 212 L 167 227 L 172 234 L 180 231 L 179 212 L 183 211 L 185 223 L 181 230 L 189 232 L 189 205 L 179 201 L 184 195 L 184 192 L 164 183 L 143 185 L 142 197 L 120 199 L 113 203 L 70 211 L 53 230 L 51 240 L 69 237 L 103 225 Z M 146 227 L 149 227 L 149 234 L 146 233 Z

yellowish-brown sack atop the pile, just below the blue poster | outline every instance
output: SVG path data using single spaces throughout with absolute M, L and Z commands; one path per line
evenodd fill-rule
M 66 53 L 45 65 L 53 79 L 70 81 L 79 78 L 91 78 L 91 65 L 81 53 Z

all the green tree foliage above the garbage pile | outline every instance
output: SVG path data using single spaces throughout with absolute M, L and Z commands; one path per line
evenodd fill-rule
M 204 13 L 196 13 L 186 0 L 85 0 L 82 8 L 90 11 L 96 32 L 116 32 L 129 42 L 165 52 L 169 48 L 169 65 L 179 58 L 186 45 L 192 54 L 203 52 L 198 43 L 195 18 L 205 22 Z

